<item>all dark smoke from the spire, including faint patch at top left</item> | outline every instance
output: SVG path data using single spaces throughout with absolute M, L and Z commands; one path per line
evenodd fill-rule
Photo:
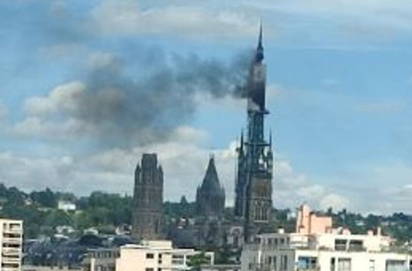
M 43 46 L 90 46 L 101 41 L 102 34 L 93 20 L 73 13 L 65 3 L 51 8 L 47 2 L 30 3 L 22 11 L 41 5 L 41 15 L 27 12 L 21 16 L 28 17 L 28 33 L 43 41 Z M 115 43 L 120 48 L 127 47 L 124 40 Z M 250 68 L 251 50 L 224 62 L 196 55 L 169 56 L 159 48 L 139 45 L 129 45 L 125 52 L 130 47 L 133 53 L 127 59 L 107 54 L 105 61 L 81 72 L 86 90 L 71 97 L 72 108 L 76 110 L 62 109 L 59 116 L 84 124 L 85 128 L 76 131 L 78 137 L 90 138 L 104 146 L 167 140 L 177 126 L 190 120 L 199 96 L 220 99 L 241 98 L 244 94 L 242 86 Z M 75 72 L 77 77 L 78 73 Z

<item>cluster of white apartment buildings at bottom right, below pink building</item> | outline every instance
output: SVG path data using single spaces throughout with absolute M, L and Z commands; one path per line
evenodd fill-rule
M 301 221 L 298 218 L 299 224 Z M 329 222 L 327 223 L 329 224 Z M 297 226 L 299 228 L 299 226 Z M 315 227 L 317 228 L 317 227 Z M 319 227 L 306 233 L 268 233 L 246 244 L 241 270 L 259 271 L 410 271 L 412 257 L 392 246 L 380 229 L 365 235 L 344 228 Z

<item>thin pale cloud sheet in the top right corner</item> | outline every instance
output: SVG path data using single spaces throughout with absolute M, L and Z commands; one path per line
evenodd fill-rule
M 296 17 L 311 16 L 341 25 L 352 32 L 386 35 L 391 30 L 410 30 L 412 4 L 405 0 L 243 1 L 245 5 Z M 342 29 L 344 30 L 344 29 Z M 367 30 L 367 31 L 365 31 Z

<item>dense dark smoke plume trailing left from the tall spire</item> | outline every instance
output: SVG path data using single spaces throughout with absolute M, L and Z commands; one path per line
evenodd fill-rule
M 251 59 L 250 51 L 228 63 L 173 55 L 130 75 L 122 60 L 112 58 L 86 75 L 87 90 L 76 97 L 71 117 L 92 125 L 94 139 L 105 145 L 163 141 L 190 118 L 199 96 L 242 98 Z

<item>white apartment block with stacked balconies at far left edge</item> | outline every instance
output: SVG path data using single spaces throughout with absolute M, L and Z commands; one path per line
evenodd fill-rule
M 1 271 L 20 271 L 22 261 L 23 222 L 0 219 Z

